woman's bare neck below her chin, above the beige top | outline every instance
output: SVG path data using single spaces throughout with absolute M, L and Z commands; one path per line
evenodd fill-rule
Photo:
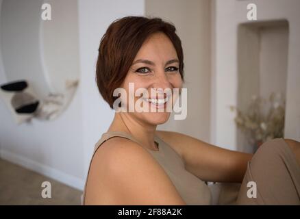
M 147 146 L 149 149 L 156 150 L 154 142 L 156 125 L 142 123 L 138 118 L 134 118 L 129 113 L 115 113 L 114 120 L 108 131 L 123 131 L 130 133 L 138 142 Z

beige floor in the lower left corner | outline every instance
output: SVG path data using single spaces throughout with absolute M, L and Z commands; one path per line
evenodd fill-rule
M 51 198 L 42 198 L 43 181 Z M 82 191 L 0 159 L 0 205 L 80 205 Z

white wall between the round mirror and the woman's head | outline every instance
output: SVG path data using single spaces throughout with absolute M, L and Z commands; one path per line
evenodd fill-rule
M 42 1 L 36 2 L 42 4 Z M 75 97 L 58 119 L 50 122 L 33 120 L 32 123 L 22 125 L 14 124 L 9 110 L 0 102 L 0 156 L 82 190 L 94 145 L 110 125 L 113 116 L 95 83 L 99 41 L 108 25 L 116 18 L 144 14 L 144 1 L 72 2 L 75 5 L 71 8 L 78 7 L 79 14 L 77 43 L 80 81 Z M 57 34 L 56 37 L 60 36 Z M 27 46 L 34 47 L 36 44 Z M 1 64 L 0 83 L 7 82 L 7 74 Z

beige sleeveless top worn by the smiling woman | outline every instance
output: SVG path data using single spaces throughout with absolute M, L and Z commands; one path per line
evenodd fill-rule
M 95 152 L 105 142 L 106 140 L 113 137 L 121 137 L 132 140 L 138 144 L 138 140 L 136 140 L 129 133 L 121 132 L 121 131 L 111 131 L 107 133 L 103 133 L 101 139 L 95 144 Z M 175 185 L 177 192 L 180 194 L 182 199 L 186 202 L 187 205 L 210 205 L 211 204 L 211 194 L 208 185 L 206 185 L 201 179 L 195 177 L 190 172 L 185 169 L 184 162 L 182 158 L 178 155 L 174 149 L 171 148 L 166 142 L 160 139 L 155 135 L 155 142 L 158 144 L 158 151 L 153 151 L 145 148 L 162 166 L 168 177 L 171 179 L 172 183 Z M 88 170 L 88 172 L 90 169 Z M 82 197 L 82 203 L 84 203 L 86 185 L 84 187 L 84 194 Z

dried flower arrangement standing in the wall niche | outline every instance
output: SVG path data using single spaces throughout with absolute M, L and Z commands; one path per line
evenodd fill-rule
M 236 112 L 236 125 L 251 145 L 257 147 L 273 138 L 284 137 L 285 99 L 282 93 L 273 92 L 268 99 L 253 95 L 245 112 L 234 106 L 230 109 Z

